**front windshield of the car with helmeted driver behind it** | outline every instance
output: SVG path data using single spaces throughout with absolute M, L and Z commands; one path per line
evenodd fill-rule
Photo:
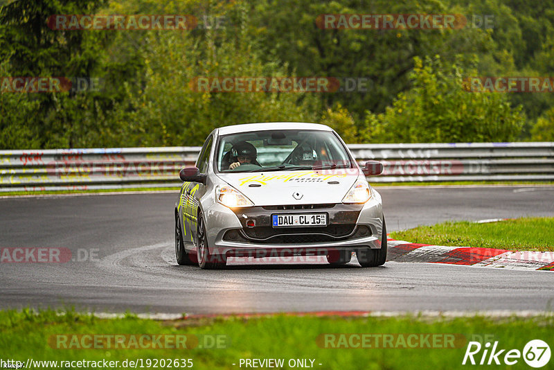
M 352 168 L 333 132 L 274 130 L 220 136 L 216 152 L 220 172 Z

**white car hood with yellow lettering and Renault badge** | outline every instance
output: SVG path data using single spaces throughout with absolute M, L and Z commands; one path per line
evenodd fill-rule
M 256 206 L 341 203 L 359 175 L 352 168 L 217 174 Z

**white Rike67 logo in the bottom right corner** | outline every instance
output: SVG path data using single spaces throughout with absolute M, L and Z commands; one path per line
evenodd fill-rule
M 524 346 L 523 351 L 519 351 L 519 349 L 500 349 L 498 341 L 492 344 L 492 348 L 490 342 L 486 342 L 484 346 L 479 342 L 469 342 L 462 364 L 514 365 L 523 358 L 530 367 L 539 368 L 548 364 L 550 357 L 550 347 L 542 340 L 529 341 Z

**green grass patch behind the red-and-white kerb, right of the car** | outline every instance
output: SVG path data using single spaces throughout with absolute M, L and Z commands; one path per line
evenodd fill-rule
M 554 251 L 553 230 L 554 218 L 518 218 L 483 224 L 443 222 L 395 231 L 390 237 L 431 245 L 544 252 Z

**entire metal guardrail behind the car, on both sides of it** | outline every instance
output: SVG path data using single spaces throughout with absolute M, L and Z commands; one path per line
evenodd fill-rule
M 382 161 L 371 182 L 554 181 L 554 142 L 351 144 L 361 163 Z M 199 147 L 0 151 L 6 191 L 168 188 Z

